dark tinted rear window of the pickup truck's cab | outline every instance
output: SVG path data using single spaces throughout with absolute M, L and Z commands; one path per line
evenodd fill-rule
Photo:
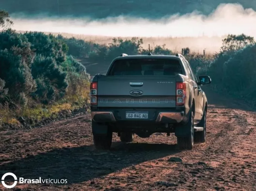
M 120 59 L 108 76 L 175 76 L 184 74 L 177 59 Z

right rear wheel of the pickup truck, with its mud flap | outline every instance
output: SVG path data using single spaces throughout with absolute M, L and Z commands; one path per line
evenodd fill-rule
M 189 129 L 189 135 L 187 137 L 177 137 L 177 143 L 179 149 L 193 149 L 194 147 L 194 113 L 191 111 L 189 122 L 183 127 Z

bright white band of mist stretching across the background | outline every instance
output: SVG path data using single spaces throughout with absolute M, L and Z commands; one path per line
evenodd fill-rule
M 198 37 L 245 33 L 256 36 L 256 12 L 240 4 L 220 4 L 211 14 L 193 11 L 184 15 L 172 14 L 157 19 L 116 16 L 93 19 L 89 16 L 28 17 L 12 13 L 13 29 L 98 36 L 119 37 Z

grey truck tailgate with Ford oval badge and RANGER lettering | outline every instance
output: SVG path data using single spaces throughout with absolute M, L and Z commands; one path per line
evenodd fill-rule
M 175 107 L 175 80 L 175 76 L 98 76 L 98 107 Z

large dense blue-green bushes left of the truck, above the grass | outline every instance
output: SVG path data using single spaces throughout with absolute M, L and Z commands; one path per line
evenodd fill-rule
M 74 57 L 66 56 L 69 47 L 63 39 L 41 32 L 2 31 L 0 101 L 9 98 L 25 106 L 33 98 L 52 104 L 64 98 L 68 87 L 77 88 L 74 79 L 89 81 L 86 68 Z

